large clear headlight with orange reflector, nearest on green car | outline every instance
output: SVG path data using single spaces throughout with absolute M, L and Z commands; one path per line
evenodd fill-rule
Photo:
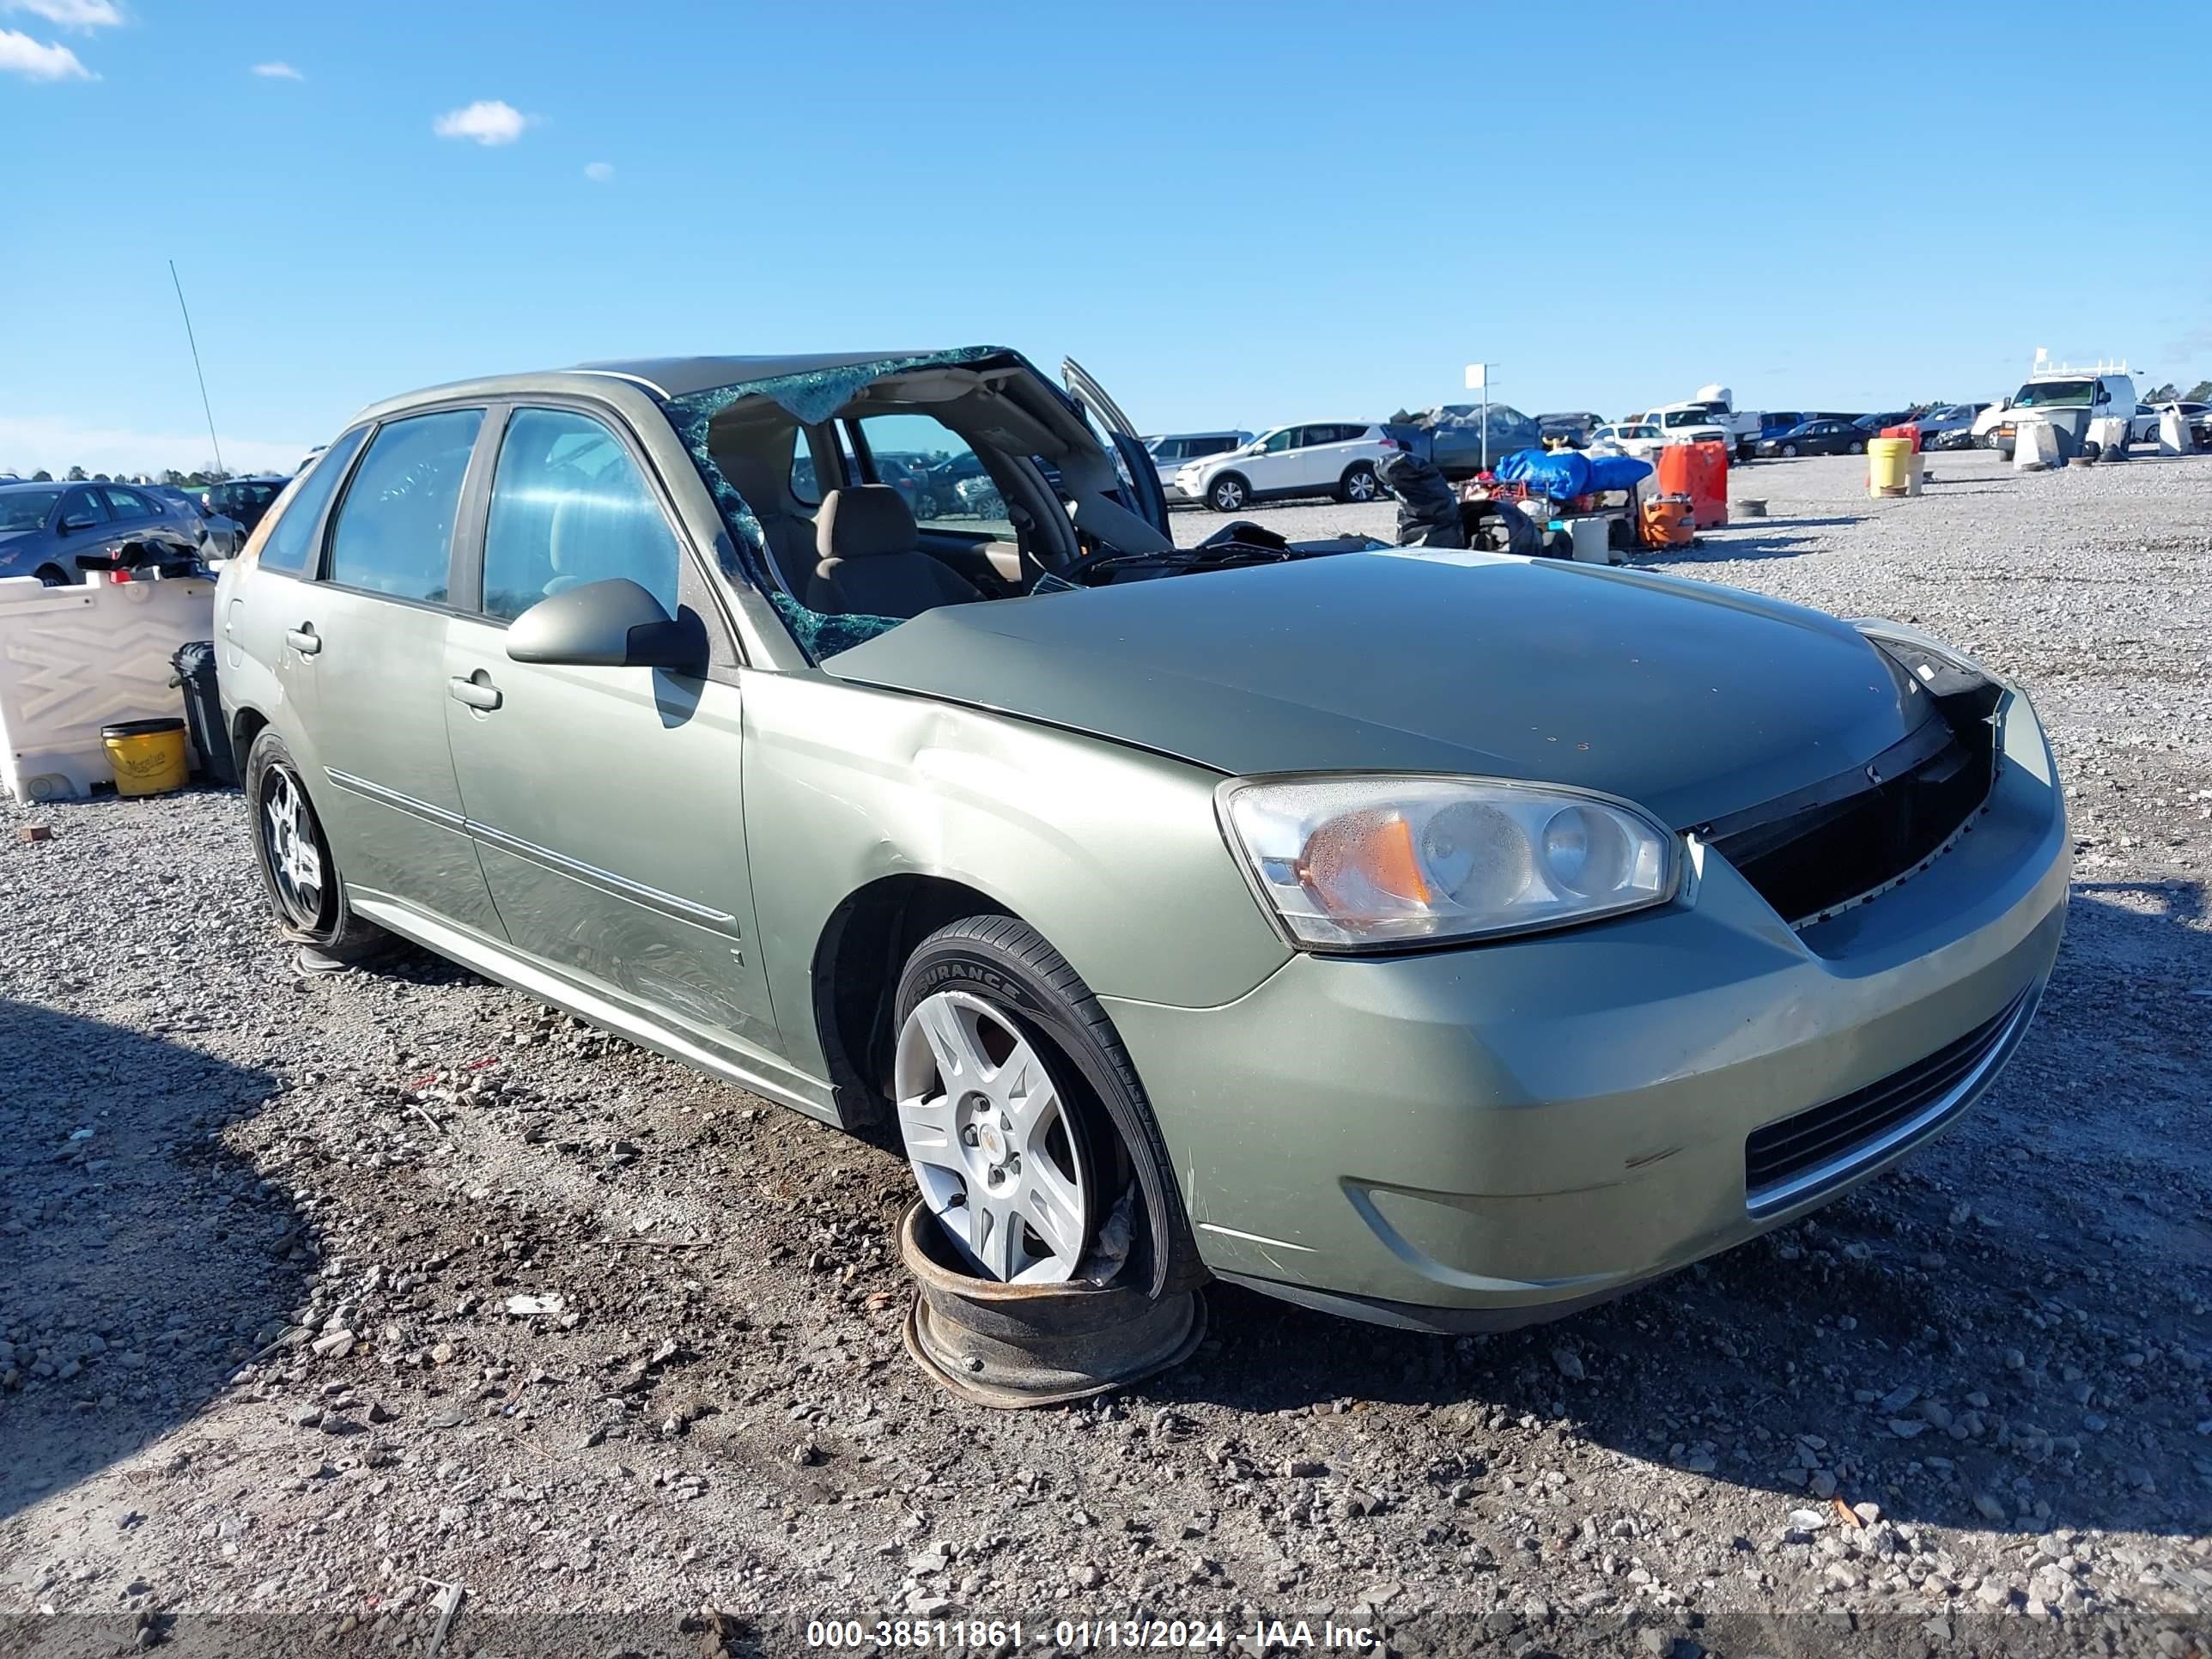
M 1531 933 L 1661 905 L 1679 843 L 1632 807 L 1493 779 L 1232 779 L 1230 845 L 1301 945 Z

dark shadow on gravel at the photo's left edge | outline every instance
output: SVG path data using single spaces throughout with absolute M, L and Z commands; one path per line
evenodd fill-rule
M 279 1082 L 0 1000 L 0 1520 L 188 1422 L 303 1301 L 312 1243 L 217 1133 Z

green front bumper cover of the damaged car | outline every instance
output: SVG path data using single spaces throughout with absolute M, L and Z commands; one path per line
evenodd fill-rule
M 1108 1000 L 1199 1254 L 1363 1318 L 1515 1325 L 1792 1221 L 1942 1133 L 2026 1031 L 2064 929 L 2051 752 L 2026 699 L 2002 721 L 1971 834 L 1803 933 L 1699 849 L 1692 894 L 1639 916 L 1296 956 L 1217 1009 Z M 1984 1026 L 1986 1066 L 1955 1066 L 1816 1181 L 1754 1190 L 1754 1130 L 1869 1099 Z

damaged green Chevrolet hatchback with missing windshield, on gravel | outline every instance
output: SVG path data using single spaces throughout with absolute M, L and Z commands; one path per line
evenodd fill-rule
M 2035 710 L 1944 644 L 1177 549 L 1113 400 L 998 347 L 380 403 L 217 611 L 290 938 L 414 940 L 900 1146 L 1011 1283 L 1613 1296 L 1958 1121 L 2066 909 Z

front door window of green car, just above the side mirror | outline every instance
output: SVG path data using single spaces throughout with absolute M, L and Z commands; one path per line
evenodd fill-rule
M 369 451 L 365 467 L 376 465 Z M 513 622 L 540 599 L 628 577 L 677 611 L 684 553 L 630 451 L 599 420 L 515 409 L 491 476 L 484 615 Z

